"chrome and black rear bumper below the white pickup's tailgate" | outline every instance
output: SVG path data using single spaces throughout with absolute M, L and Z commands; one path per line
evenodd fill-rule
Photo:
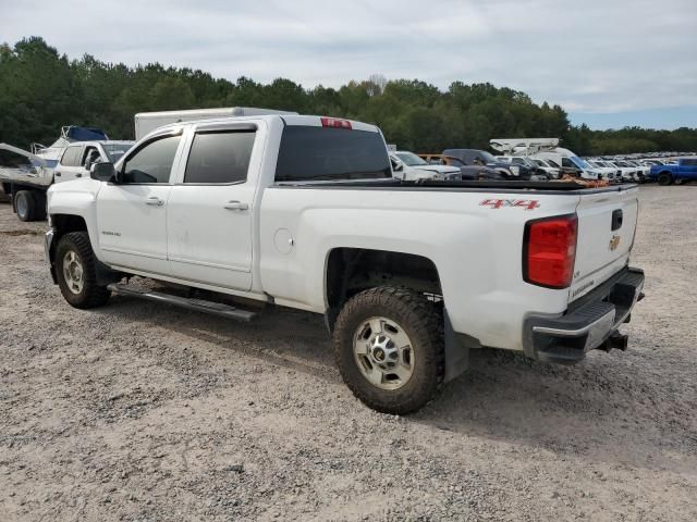
M 626 268 L 574 302 L 564 315 L 530 315 L 523 326 L 525 353 L 540 361 L 574 364 L 588 350 L 622 345 L 615 332 L 629 321 L 644 294 L 644 271 Z

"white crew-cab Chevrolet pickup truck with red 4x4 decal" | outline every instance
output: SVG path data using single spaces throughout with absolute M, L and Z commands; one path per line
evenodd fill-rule
M 628 265 L 637 195 L 404 182 L 372 125 L 227 117 L 159 128 L 90 178 L 52 186 L 46 251 L 76 308 L 113 293 L 243 321 L 255 312 L 231 297 L 325 314 L 348 387 L 404 414 L 470 349 L 568 364 L 626 348 L 617 328 L 644 285 Z

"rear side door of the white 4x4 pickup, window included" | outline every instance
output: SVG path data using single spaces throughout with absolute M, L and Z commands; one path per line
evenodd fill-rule
M 252 287 L 253 203 L 262 144 L 256 124 L 198 124 L 167 212 L 172 275 Z M 252 166 L 250 166 L 252 165 Z

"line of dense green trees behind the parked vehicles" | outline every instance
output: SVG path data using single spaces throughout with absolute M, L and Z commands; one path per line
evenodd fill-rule
M 697 150 L 697 128 L 574 126 L 560 105 L 525 92 L 454 82 L 447 91 L 418 79 L 374 75 L 335 89 L 306 89 L 290 79 L 260 84 L 215 78 L 159 63 L 126 66 L 85 54 L 70 60 L 40 37 L 0 45 L 0 141 L 50 145 L 61 125 L 97 126 L 132 139 L 137 112 L 212 107 L 262 107 L 375 123 L 390 144 L 416 152 L 488 149 L 491 138 L 560 137 L 578 154 Z

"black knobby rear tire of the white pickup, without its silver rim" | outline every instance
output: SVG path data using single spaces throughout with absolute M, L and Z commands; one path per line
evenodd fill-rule
M 362 323 L 386 318 L 408 336 L 414 353 L 411 377 L 396 389 L 383 389 L 363 375 L 354 355 L 354 339 Z M 444 375 L 442 314 L 415 291 L 371 288 L 351 298 L 337 319 L 333 333 L 334 358 L 341 376 L 353 394 L 369 408 L 404 415 L 423 408 L 440 391 Z

